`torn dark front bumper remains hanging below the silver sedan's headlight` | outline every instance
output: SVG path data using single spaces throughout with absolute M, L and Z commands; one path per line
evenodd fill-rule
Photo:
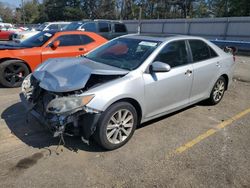
M 23 93 L 20 94 L 20 99 L 27 109 L 27 113 L 35 117 L 41 124 L 46 125 L 53 132 L 54 137 L 63 134 L 81 136 L 83 141 L 88 142 L 95 132 L 101 116 L 100 111 L 93 111 L 87 107 L 66 114 L 41 112 L 37 109 L 36 104 L 32 104 L 26 99 Z

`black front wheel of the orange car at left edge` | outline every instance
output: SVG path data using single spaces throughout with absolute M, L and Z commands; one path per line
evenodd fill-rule
M 0 84 L 4 87 L 20 87 L 23 79 L 30 73 L 21 60 L 6 60 L 0 63 Z

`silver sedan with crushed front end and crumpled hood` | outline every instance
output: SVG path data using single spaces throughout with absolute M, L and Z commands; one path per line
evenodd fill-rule
M 79 58 L 50 59 L 23 82 L 21 100 L 54 136 L 124 145 L 138 124 L 207 99 L 220 102 L 234 60 L 190 36 L 127 35 Z

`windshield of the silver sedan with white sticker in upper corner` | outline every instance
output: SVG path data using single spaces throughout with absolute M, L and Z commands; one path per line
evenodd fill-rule
M 157 48 L 159 41 L 118 38 L 85 57 L 114 67 L 134 70 Z

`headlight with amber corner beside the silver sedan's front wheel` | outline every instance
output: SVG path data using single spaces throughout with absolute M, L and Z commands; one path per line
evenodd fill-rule
M 94 95 L 69 96 L 55 98 L 49 102 L 47 112 L 53 114 L 63 114 L 71 111 L 78 111 L 87 105 Z

